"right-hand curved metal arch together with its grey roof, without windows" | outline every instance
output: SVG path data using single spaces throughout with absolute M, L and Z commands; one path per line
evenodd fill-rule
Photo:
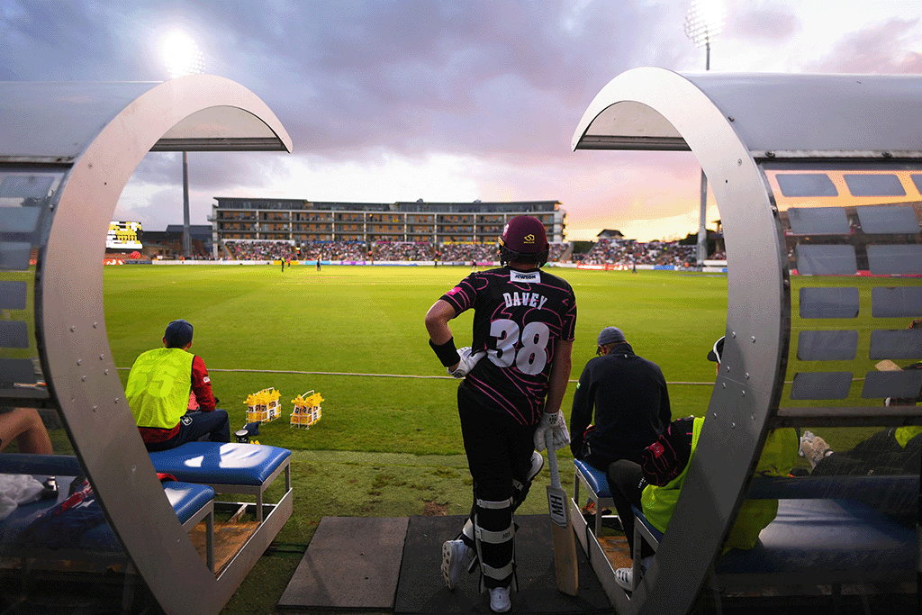
M 700 445 L 644 583 L 630 599 L 614 594 L 619 612 L 691 609 L 771 428 L 819 417 L 840 425 L 918 422 L 916 408 L 884 418 L 884 408 L 860 400 L 846 410 L 838 402 L 799 414 L 782 408 L 796 405 L 786 389 L 797 354 L 793 267 L 766 165 L 900 160 L 919 169 L 920 100 L 916 76 L 680 75 L 642 67 L 612 79 L 577 124 L 573 149 L 691 150 L 714 190 L 727 246 L 727 341 Z M 906 254 L 922 260 L 918 249 Z

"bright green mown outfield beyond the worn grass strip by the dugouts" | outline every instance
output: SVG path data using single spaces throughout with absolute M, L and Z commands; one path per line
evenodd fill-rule
M 550 269 L 576 293 L 576 380 L 595 356 L 598 331 L 620 326 L 633 348 L 669 382 L 713 383 L 705 354 L 722 335 L 727 278 L 662 271 Z M 192 351 L 205 359 L 231 427 L 246 422 L 245 399 L 281 392 L 281 419 L 260 427 L 260 442 L 291 449 L 457 455 L 463 453 L 454 379 L 432 354 L 423 316 L 467 267 L 121 266 L 105 268 L 105 313 L 123 383 L 141 352 L 160 345 L 175 318 L 195 325 Z M 452 322 L 470 343 L 472 313 Z M 694 324 L 690 326 L 690 324 Z M 225 372 L 223 370 L 241 370 Z M 311 373 L 260 373 L 311 372 Z M 354 374 L 392 374 L 340 375 Z M 393 377 L 409 376 L 409 377 Z M 565 414 L 573 384 L 563 402 Z M 324 396 L 323 419 L 289 426 L 290 400 Z M 673 414 L 700 414 L 712 387 L 673 384 Z

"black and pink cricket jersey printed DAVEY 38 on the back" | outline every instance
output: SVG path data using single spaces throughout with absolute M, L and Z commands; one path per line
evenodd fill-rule
M 522 425 L 541 419 L 557 341 L 573 341 L 570 284 L 540 269 L 471 273 L 442 296 L 456 313 L 474 308 L 471 352 L 487 355 L 461 386 Z

